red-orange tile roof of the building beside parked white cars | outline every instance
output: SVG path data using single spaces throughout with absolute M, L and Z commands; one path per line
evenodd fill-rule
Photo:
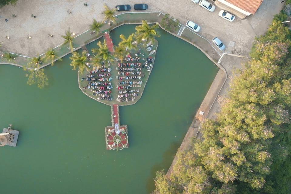
M 263 0 L 226 0 L 226 1 L 251 14 L 255 14 L 263 2 Z

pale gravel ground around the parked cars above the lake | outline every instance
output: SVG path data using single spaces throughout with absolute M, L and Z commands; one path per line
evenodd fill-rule
M 85 1 L 84 1 L 85 2 Z M 234 22 L 228 22 L 218 16 L 219 8 L 212 13 L 194 4 L 190 0 L 88 0 L 88 6 L 78 0 L 18 0 L 16 6 L 5 6 L 0 9 L 0 42 L 2 50 L 21 53 L 28 56 L 42 54 L 48 48 L 53 48 L 63 42 L 60 35 L 64 34 L 68 27 L 75 34 L 80 34 L 89 28 L 92 18 L 102 20 L 103 4 L 109 7 L 115 5 L 134 3 L 147 3 L 149 12 L 161 11 L 170 13 L 179 18 L 182 24 L 192 20 L 201 26 L 200 35 L 210 41 L 213 37 L 219 37 L 227 46 L 226 52 L 247 55 L 254 37 L 262 35 L 272 21 L 273 15 L 278 13 L 283 4 L 278 0 L 264 0 L 255 15 L 241 20 L 236 18 Z M 70 9 L 72 14 L 68 14 Z M 16 18 L 12 14 L 17 15 Z M 36 15 L 36 18 L 31 17 Z M 8 22 L 5 22 L 5 19 Z M 30 33 L 31 39 L 27 36 Z M 9 34 L 10 40 L 5 37 Z M 53 38 L 48 34 L 55 35 Z M 234 45 L 231 46 L 231 43 Z

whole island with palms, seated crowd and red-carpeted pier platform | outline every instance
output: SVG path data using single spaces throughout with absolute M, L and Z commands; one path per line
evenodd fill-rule
M 97 24 L 96 24 L 97 25 Z M 120 125 L 119 106 L 135 104 L 142 96 L 152 71 L 158 41 L 155 31 L 158 24 L 149 25 L 146 20 L 136 26 L 136 32 L 118 46 L 113 45 L 110 31 L 102 32 L 103 43 L 92 49 L 85 45 L 83 52 L 73 52 L 71 66 L 78 71 L 79 88 L 90 98 L 111 106 L 112 126 L 105 127 L 105 142 L 108 150 L 129 147 L 127 125 Z M 92 29 L 93 30 L 93 29 Z

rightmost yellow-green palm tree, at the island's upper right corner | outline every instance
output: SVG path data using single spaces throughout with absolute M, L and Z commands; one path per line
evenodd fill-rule
M 146 20 L 142 20 L 142 25 L 136 26 L 136 38 L 137 40 L 154 40 L 155 37 L 160 37 L 160 35 L 156 32 L 156 28 L 158 28 L 158 24 L 154 24 L 149 26 Z

